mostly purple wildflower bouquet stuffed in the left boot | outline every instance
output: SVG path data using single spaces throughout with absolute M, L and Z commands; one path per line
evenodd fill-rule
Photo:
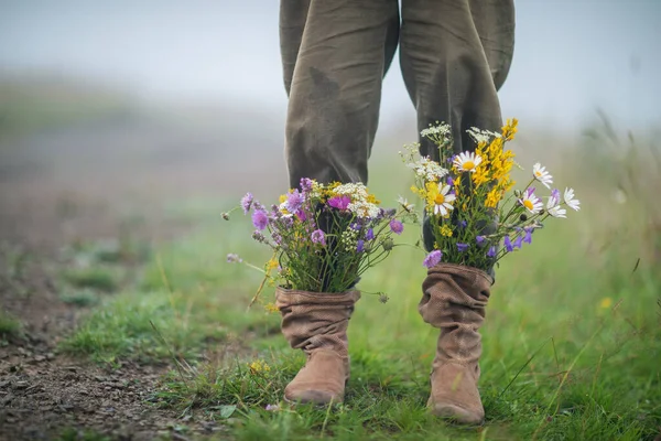
M 381 208 L 361 183 L 310 179 L 269 208 L 250 193 L 240 205 L 246 215 L 251 213 L 252 238 L 273 251 L 263 269 L 264 282 L 312 292 L 351 289 L 368 268 L 388 257 L 393 235 L 403 232 L 402 220 L 414 219 L 403 201 L 399 209 Z M 241 259 L 229 255 L 228 260 Z

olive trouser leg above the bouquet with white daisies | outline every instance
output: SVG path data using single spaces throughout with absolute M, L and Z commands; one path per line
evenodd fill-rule
M 513 25 L 512 0 L 403 0 L 400 62 L 419 131 L 447 122 L 460 152 L 475 147 L 470 127 L 499 130 L 497 88 L 509 72 Z M 438 158 L 420 142 L 422 154 Z

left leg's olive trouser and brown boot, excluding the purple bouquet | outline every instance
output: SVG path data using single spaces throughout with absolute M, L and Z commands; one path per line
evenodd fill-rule
M 281 1 L 281 54 L 289 96 L 285 152 L 292 187 L 302 178 L 367 183 L 381 82 L 398 34 L 397 0 Z M 359 298 L 353 290 L 278 289 L 282 332 L 293 348 L 307 355 L 305 366 L 284 390 L 285 400 L 343 400 L 349 378 L 346 331 Z

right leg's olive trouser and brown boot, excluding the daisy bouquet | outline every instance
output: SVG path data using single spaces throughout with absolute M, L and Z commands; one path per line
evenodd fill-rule
M 452 128 L 454 151 L 474 150 L 467 129 L 500 129 L 497 90 L 513 52 L 511 0 L 403 0 L 401 68 L 418 112 L 419 131 L 435 121 Z M 421 137 L 421 154 L 438 160 Z M 430 226 L 423 228 L 431 249 Z M 440 265 L 430 269 L 419 310 L 441 330 L 431 374 L 433 413 L 464 423 L 484 420 L 477 389 L 485 316 L 494 279 L 476 269 Z

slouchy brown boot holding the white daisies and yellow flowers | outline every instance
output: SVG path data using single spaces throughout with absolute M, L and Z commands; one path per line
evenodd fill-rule
M 441 329 L 432 365 L 432 392 L 427 406 L 433 415 L 464 424 L 485 419 L 477 381 L 481 337 L 494 279 L 476 268 L 440 263 L 427 271 L 418 306 L 422 319 Z

